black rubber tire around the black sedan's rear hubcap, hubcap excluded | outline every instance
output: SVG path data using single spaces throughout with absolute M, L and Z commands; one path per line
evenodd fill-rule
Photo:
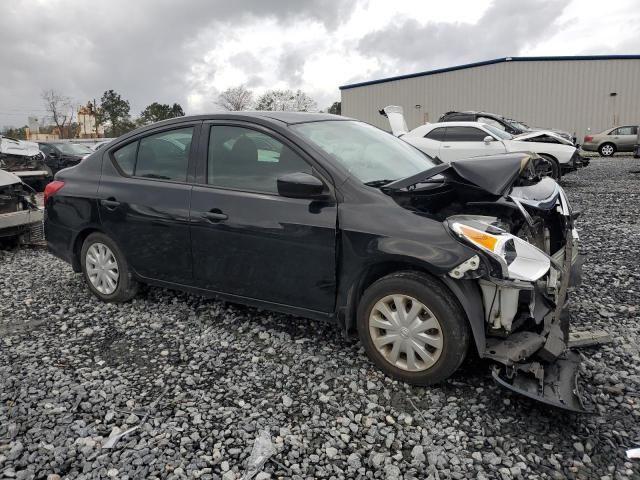
M 117 286 L 115 291 L 108 295 L 98 291 L 89 280 L 89 275 L 87 274 L 87 251 L 96 243 L 101 243 L 109 247 L 117 262 L 119 273 Z M 136 296 L 138 292 L 138 282 L 132 278 L 129 264 L 120 248 L 118 248 L 118 245 L 107 235 L 94 232 L 85 239 L 80 251 L 80 264 L 82 265 L 82 274 L 84 275 L 89 290 L 103 302 L 127 302 Z

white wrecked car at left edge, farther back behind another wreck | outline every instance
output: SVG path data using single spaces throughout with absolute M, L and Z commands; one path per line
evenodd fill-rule
M 45 156 L 34 142 L 0 135 L 0 169 L 12 172 L 38 191 L 53 178 Z

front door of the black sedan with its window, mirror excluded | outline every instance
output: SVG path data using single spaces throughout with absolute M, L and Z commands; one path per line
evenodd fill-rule
M 203 130 L 206 165 L 191 202 L 194 279 L 207 290 L 332 312 L 336 288 L 334 200 L 278 195 L 287 173 L 317 176 L 286 138 L 249 123 Z M 330 190 L 330 188 L 329 188 Z

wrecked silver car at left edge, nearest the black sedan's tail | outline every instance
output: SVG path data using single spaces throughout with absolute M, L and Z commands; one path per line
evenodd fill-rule
M 33 190 L 17 175 L 0 170 L 0 241 L 41 240 L 42 220 Z

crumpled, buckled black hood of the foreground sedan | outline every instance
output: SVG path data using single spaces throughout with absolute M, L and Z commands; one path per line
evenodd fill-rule
M 457 162 L 442 163 L 433 168 L 407 178 L 396 180 L 384 186 L 383 190 L 401 190 L 427 181 L 436 175 L 454 177 L 461 183 L 470 183 L 493 195 L 506 195 L 513 184 L 527 168 L 532 153 L 507 153 L 474 157 Z M 455 178 L 459 177 L 459 178 Z

